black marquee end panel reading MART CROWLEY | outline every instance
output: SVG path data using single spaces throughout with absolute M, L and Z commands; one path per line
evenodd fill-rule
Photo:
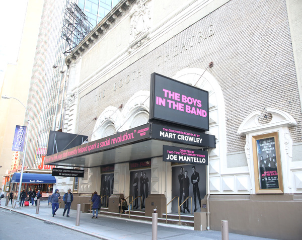
M 157 123 L 152 123 L 152 138 L 200 147 L 216 147 L 216 140 L 214 135 L 209 135 L 185 128 L 178 128 L 167 124 L 160 125 Z

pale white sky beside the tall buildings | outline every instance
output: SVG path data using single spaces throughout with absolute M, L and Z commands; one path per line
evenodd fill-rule
M 28 0 L 0 0 L 0 87 L 8 63 L 16 64 Z

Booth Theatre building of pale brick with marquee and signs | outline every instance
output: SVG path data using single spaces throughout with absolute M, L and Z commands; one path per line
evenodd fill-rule
M 133 199 L 130 216 L 157 207 L 165 218 L 181 205 L 196 229 L 228 220 L 230 232 L 298 239 L 299 8 L 120 1 L 66 57 L 63 132 L 88 143 L 45 157 L 85 170 L 57 186 L 74 181 L 78 203 L 97 191 L 108 212 L 124 196 Z

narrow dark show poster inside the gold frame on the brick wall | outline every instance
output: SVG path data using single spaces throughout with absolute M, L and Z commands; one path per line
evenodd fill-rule
M 278 189 L 278 170 L 275 138 L 258 139 L 257 155 L 259 166 L 260 189 Z

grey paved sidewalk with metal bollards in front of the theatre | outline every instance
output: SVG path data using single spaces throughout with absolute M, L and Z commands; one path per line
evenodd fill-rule
M 36 214 L 36 207 L 21 207 L 12 208 L 12 205 L 5 206 L 5 201 L 2 201 L 1 208 L 19 212 L 43 221 L 48 221 L 75 231 L 83 232 L 100 239 L 117 240 L 150 240 L 152 239 L 152 223 L 147 223 L 137 220 L 121 219 L 109 217 L 99 214 L 97 219 L 92 219 L 92 214 L 81 213 L 80 225 L 76 226 L 77 210 L 71 210 L 69 216 L 62 216 L 63 209 L 59 208 L 56 216 L 52 217 L 51 206 L 47 205 L 48 201 L 41 201 L 39 214 Z M 175 238 L 176 237 L 176 238 Z M 206 240 L 206 239 L 221 239 L 220 231 L 194 231 L 191 229 L 182 228 L 179 226 L 171 226 L 166 224 L 158 225 L 158 239 L 190 239 L 190 240 Z M 240 234 L 229 233 L 230 240 L 268 240 L 269 238 L 246 236 Z

